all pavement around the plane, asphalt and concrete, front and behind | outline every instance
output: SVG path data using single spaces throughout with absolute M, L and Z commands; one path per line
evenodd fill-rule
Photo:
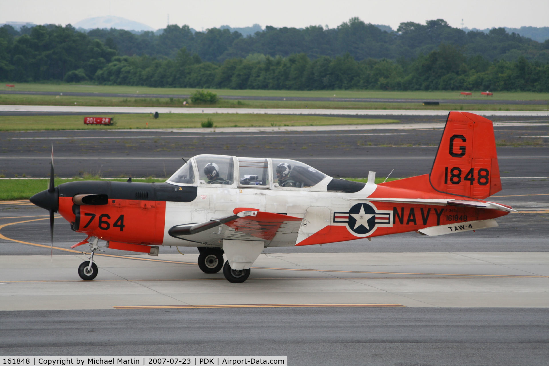
M 168 247 L 159 257 L 96 257 L 98 279 L 80 281 L 81 254 L 55 249 L 49 258 L 48 213 L 27 202 L 3 202 L 0 304 L 10 311 L 0 312 L 0 354 L 261 354 L 288 356 L 296 365 L 546 364 L 549 147 L 542 136 L 549 131 L 528 123 L 495 128 L 496 140 L 518 146 L 498 148 L 505 179 L 503 190 L 490 198 L 522 215 L 498 218 L 500 227 L 476 233 L 432 238 L 406 233 L 267 249 L 255 263 L 264 268 L 253 269 L 244 284 L 229 284 L 222 274 L 206 278 L 194 264 L 196 249 L 181 249 L 181 256 Z M 356 176 L 357 169 L 384 176 L 395 167 L 392 176 L 398 177 L 430 170 L 441 129 L 238 134 L 243 136 L 2 132 L 0 165 L 7 177 L 44 177 L 53 142 L 58 176 L 82 171 L 163 177 L 182 164 L 181 157 L 219 153 L 288 157 L 333 176 Z M 67 249 L 81 239 L 56 218 L 56 247 Z M 288 269 L 276 269 L 283 267 Z M 365 306 L 199 308 L 328 302 Z M 380 303 L 406 307 L 366 306 Z M 113 309 L 174 304 L 191 308 Z

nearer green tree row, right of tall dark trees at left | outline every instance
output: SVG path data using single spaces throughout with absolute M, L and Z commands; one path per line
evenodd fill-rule
M 445 43 L 427 55 L 399 61 L 356 61 L 349 53 L 310 59 L 299 53 L 285 58 L 254 54 L 216 64 L 182 49 L 173 60 L 114 57 L 94 80 L 152 87 L 549 92 L 549 64 L 524 57 L 495 62 L 480 56 L 467 58 L 459 48 Z

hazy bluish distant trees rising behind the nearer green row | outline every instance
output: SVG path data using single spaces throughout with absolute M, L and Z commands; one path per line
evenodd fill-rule
M 549 40 L 543 43 L 530 38 L 507 33 L 505 29 L 465 32 L 453 28 L 442 19 L 428 20 L 425 24 L 402 22 L 396 32 L 388 32 L 379 26 L 366 24 L 358 18 L 328 29 L 312 25 L 305 29 L 267 26 L 264 31 L 243 37 L 239 32 L 212 28 L 193 32 L 187 25 L 169 25 L 156 35 L 143 32 L 135 35 L 125 30 L 95 29 L 88 36 L 97 38 L 119 55 L 149 55 L 173 58 L 185 47 L 200 59 L 223 62 L 232 58 L 245 58 L 261 53 L 271 57 L 288 57 L 305 53 L 309 58 L 337 57 L 349 53 L 356 60 L 367 58 L 414 58 L 436 49 L 440 43 L 461 47 L 467 56 L 481 55 L 492 61 L 526 59 L 549 62 Z

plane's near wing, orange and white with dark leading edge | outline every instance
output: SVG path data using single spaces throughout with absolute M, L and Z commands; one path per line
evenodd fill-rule
M 264 240 L 265 245 L 294 245 L 302 219 L 280 213 L 239 207 L 234 215 L 212 218 L 197 224 L 182 224 L 168 233 L 194 243 L 220 245 L 223 239 Z

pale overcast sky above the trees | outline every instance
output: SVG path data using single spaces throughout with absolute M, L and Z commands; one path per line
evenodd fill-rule
M 93 16 L 115 15 L 164 28 L 183 25 L 200 31 L 211 27 L 337 27 L 354 16 L 372 24 L 444 19 L 452 27 L 549 26 L 549 0 L 0 0 L 0 23 L 75 24 Z

